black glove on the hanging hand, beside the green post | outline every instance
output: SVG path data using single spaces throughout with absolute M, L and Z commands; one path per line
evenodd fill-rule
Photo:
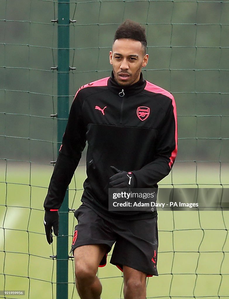
M 55 236 L 58 236 L 59 232 L 59 212 L 55 211 L 45 211 L 44 218 L 45 233 L 48 244 L 51 244 L 53 241 L 52 237 L 52 227 Z

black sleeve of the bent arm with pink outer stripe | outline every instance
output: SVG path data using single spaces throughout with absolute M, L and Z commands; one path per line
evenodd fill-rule
M 167 109 L 156 140 L 154 159 L 140 170 L 133 171 L 136 187 L 149 188 L 166 177 L 177 155 L 177 113 L 174 98 Z

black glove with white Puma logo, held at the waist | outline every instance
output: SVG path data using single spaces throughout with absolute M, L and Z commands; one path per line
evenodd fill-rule
M 110 167 L 115 173 L 110 178 L 110 186 L 112 188 L 134 188 L 135 187 L 135 177 L 132 172 L 121 171 L 114 166 Z

